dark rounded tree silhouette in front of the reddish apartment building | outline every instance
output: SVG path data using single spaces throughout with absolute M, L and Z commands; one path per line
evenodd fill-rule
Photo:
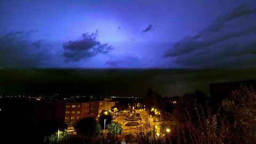
M 85 137 L 97 137 L 100 134 L 99 124 L 93 117 L 80 119 L 75 125 L 76 133 Z

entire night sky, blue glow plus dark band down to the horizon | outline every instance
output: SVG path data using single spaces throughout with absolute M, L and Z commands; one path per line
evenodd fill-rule
M 0 93 L 209 93 L 255 52 L 255 0 L 0 0 Z

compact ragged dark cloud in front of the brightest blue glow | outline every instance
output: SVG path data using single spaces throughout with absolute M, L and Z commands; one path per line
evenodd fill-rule
M 76 41 L 69 41 L 63 44 L 63 57 L 66 61 L 80 61 L 81 59 L 91 58 L 99 53 L 108 53 L 113 47 L 108 44 L 101 44 L 97 40 L 98 30 L 91 35 L 85 33 Z

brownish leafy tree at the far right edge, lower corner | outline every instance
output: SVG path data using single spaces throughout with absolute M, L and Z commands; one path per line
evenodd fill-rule
M 231 99 L 222 101 L 222 105 L 235 120 L 234 137 L 241 138 L 242 143 L 256 141 L 256 93 L 253 86 L 241 85 L 231 94 Z

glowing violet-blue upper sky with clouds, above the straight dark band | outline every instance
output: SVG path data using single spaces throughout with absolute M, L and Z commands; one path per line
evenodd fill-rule
M 0 0 L 0 67 L 255 67 L 256 1 Z

